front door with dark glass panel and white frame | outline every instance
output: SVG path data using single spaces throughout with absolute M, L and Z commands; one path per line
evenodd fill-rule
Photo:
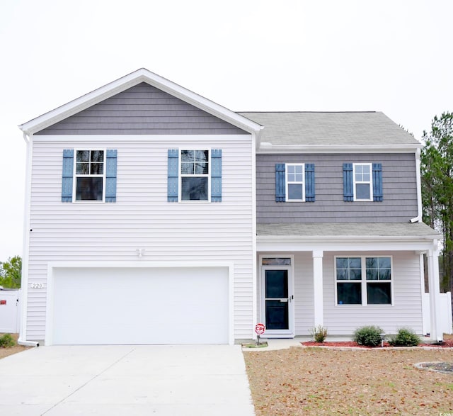
M 291 266 L 263 266 L 261 319 L 263 337 L 294 337 L 294 291 Z

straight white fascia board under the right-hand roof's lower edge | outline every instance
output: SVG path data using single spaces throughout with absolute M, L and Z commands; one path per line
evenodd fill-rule
M 413 145 L 271 145 L 262 143 L 257 154 L 289 154 L 289 153 L 414 153 L 423 147 Z

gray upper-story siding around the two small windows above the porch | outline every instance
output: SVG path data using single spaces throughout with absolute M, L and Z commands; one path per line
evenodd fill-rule
M 343 163 L 382 163 L 382 202 L 343 201 Z M 275 164 L 314 163 L 316 201 L 275 202 Z M 407 222 L 417 215 L 414 154 L 257 154 L 257 223 Z

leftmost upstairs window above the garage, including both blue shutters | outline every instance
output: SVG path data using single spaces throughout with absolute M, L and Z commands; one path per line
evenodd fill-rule
M 62 171 L 62 202 L 116 202 L 117 150 L 65 149 Z

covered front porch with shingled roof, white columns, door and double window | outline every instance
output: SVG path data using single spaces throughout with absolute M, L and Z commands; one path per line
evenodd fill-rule
M 437 238 L 423 223 L 258 224 L 257 322 L 266 337 L 317 325 L 338 336 L 364 325 L 424 335 L 426 256 L 430 338 L 441 341 Z

